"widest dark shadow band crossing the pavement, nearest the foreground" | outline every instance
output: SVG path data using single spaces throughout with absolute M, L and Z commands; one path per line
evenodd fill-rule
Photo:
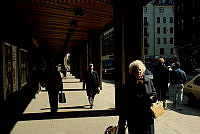
M 45 119 L 63 119 L 63 118 L 85 118 L 100 116 L 115 116 L 115 110 L 91 110 L 91 111 L 72 111 L 72 112 L 44 112 L 44 113 L 26 113 L 23 114 L 19 121 L 27 120 L 45 120 Z

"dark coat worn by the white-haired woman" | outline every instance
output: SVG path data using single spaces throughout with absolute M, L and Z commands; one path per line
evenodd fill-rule
M 119 127 L 123 128 L 127 121 L 130 129 L 144 132 L 154 122 L 150 107 L 156 100 L 157 95 L 151 79 L 145 78 L 143 84 L 137 84 L 133 76 L 129 77 L 120 97 Z

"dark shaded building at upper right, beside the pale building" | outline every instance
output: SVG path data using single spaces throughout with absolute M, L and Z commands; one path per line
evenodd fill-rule
M 175 0 L 175 47 L 182 68 L 200 68 L 200 0 Z

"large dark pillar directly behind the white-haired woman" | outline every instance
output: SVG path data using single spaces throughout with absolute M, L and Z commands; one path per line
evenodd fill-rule
M 115 70 L 115 108 L 119 110 L 119 101 L 123 84 L 129 73 L 129 64 L 143 60 L 143 3 L 114 1 L 114 54 Z

